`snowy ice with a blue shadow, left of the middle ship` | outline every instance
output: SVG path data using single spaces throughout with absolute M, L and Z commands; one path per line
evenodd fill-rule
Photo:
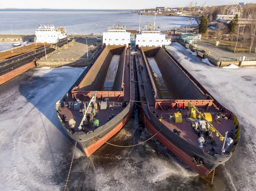
M 55 102 L 83 70 L 33 68 L 0 86 L 1 191 L 60 190 L 56 171 L 73 144 L 56 117 Z

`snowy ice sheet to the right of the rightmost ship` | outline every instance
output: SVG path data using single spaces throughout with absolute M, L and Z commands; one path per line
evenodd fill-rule
M 238 117 L 241 139 L 233 156 L 222 167 L 233 190 L 251 191 L 256 185 L 256 68 L 217 68 L 191 56 L 186 48 L 166 46 L 175 59 L 209 93 Z

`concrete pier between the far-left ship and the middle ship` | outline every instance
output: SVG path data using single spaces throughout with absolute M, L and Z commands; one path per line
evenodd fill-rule
M 96 44 L 97 40 L 95 37 L 87 37 L 87 45 L 85 38 L 79 38 L 75 43 L 70 43 L 68 46 L 61 48 L 60 51 L 55 51 L 53 54 L 41 58 L 36 61 L 38 67 L 58 67 L 58 66 L 77 66 L 84 67 L 88 66 L 91 60 L 96 56 L 97 51 L 91 51 L 88 49 L 87 57 L 87 46 Z M 65 49 L 66 48 L 66 49 Z M 98 50 L 99 50 L 98 46 Z

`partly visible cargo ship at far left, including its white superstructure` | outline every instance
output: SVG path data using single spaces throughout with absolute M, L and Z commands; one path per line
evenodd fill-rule
M 0 52 L 0 84 L 35 67 L 35 60 L 55 50 L 52 44 L 60 47 L 67 43 L 66 31 L 53 25 L 39 25 L 35 35 L 35 43 Z

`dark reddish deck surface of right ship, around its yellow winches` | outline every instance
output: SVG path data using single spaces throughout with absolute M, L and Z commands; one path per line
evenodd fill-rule
M 140 53 L 142 53 L 142 52 L 140 51 Z M 169 128 L 171 131 L 173 131 L 174 129 L 177 129 L 177 131 L 181 132 L 181 134 L 180 134 L 181 138 L 186 140 L 188 143 L 191 143 L 192 145 L 199 146 L 198 134 L 196 134 L 195 131 L 193 130 L 193 128 L 191 127 L 191 122 L 186 121 L 188 109 L 187 108 L 181 109 L 181 111 L 182 111 L 182 123 L 175 123 L 174 121 L 169 122 L 168 121 L 168 115 L 169 114 L 173 115 L 176 112 L 176 108 L 170 108 L 170 107 L 168 107 L 168 109 L 164 108 L 164 107 L 155 108 L 156 100 L 155 100 L 154 88 L 151 85 L 150 76 L 149 76 L 148 71 L 146 69 L 146 65 L 145 65 L 145 62 L 143 60 L 143 55 L 142 54 L 141 54 L 140 57 L 136 57 L 136 63 L 138 63 L 137 64 L 137 71 L 140 71 L 139 64 L 143 68 L 142 71 L 138 74 L 138 82 L 139 82 L 139 88 L 140 88 L 140 100 L 143 101 L 141 104 L 142 104 L 143 112 L 145 113 L 145 115 L 147 115 L 149 117 L 148 111 L 147 111 L 147 105 L 145 103 L 145 97 L 147 97 L 150 111 L 152 112 L 154 110 L 154 111 L 157 112 L 159 118 L 162 117 L 161 123 L 163 123 L 163 125 L 165 125 L 167 128 Z M 145 84 L 145 86 L 144 86 L 145 91 L 142 88 L 143 83 Z M 157 88 L 156 88 L 156 90 L 157 90 Z M 163 109 L 164 109 L 164 111 L 163 111 Z M 207 109 L 207 111 L 205 111 L 204 108 L 199 108 L 199 110 L 202 113 L 207 112 L 207 113 L 212 114 L 212 125 L 224 137 L 225 137 L 225 132 L 226 131 L 230 132 L 236 126 L 235 124 L 233 124 L 233 120 L 222 119 L 221 123 L 215 122 L 215 120 L 214 120 L 215 114 L 217 114 L 219 111 L 213 105 L 210 106 Z M 222 145 L 223 145 L 223 141 L 221 141 L 219 139 L 219 137 L 216 137 L 215 133 L 212 133 L 212 135 L 213 135 L 215 143 L 216 143 L 215 151 L 217 153 L 221 153 L 221 148 L 222 148 Z M 212 146 L 213 146 L 212 144 L 206 144 L 206 145 L 204 145 L 203 149 L 204 149 L 204 151 L 210 151 Z M 230 145 L 229 149 L 233 148 L 233 146 L 234 145 Z

